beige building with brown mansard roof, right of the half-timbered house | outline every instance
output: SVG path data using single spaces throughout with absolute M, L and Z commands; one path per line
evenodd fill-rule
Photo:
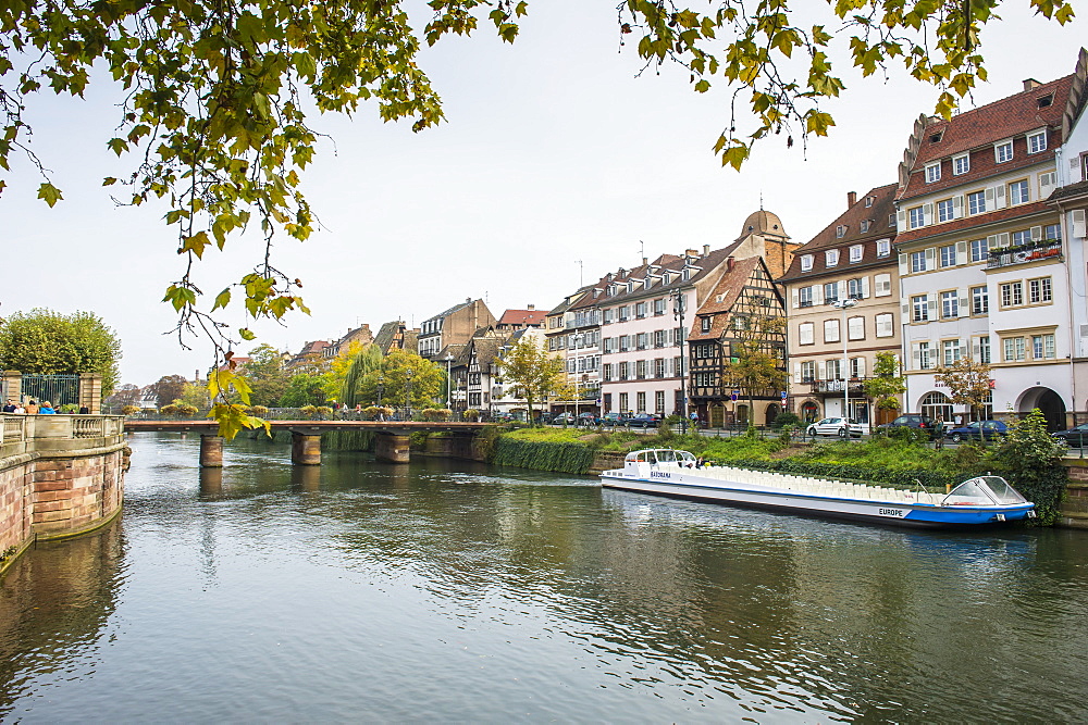
M 875 425 L 894 416 L 877 411 L 863 385 L 878 352 L 900 353 L 900 301 L 894 198 L 889 184 L 861 198 L 796 250 L 779 279 L 789 315 L 790 404 L 805 421 L 843 414 Z M 848 389 L 849 386 L 849 389 Z

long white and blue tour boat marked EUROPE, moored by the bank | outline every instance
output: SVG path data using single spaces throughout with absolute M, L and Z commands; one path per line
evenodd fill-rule
M 949 493 L 814 478 L 774 471 L 698 465 L 688 451 L 652 448 L 627 454 L 603 486 L 696 501 L 910 526 L 972 526 L 1035 517 L 1001 476 L 977 476 Z M 919 486 L 920 489 L 920 486 Z

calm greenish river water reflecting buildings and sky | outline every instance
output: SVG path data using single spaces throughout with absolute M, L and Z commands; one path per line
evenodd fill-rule
M 0 721 L 1088 716 L 1088 535 L 138 434 L 122 517 L 0 582 Z

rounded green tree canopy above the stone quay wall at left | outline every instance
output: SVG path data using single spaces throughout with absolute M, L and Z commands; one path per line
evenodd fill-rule
M 98 373 L 102 396 L 118 385 L 121 340 L 92 312 L 34 309 L 0 318 L 0 370 L 45 375 Z

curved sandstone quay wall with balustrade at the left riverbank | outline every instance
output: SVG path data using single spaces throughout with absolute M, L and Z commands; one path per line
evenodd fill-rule
M 113 415 L 2 415 L 0 572 L 36 539 L 78 536 L 121 511 L 129 449 Z

